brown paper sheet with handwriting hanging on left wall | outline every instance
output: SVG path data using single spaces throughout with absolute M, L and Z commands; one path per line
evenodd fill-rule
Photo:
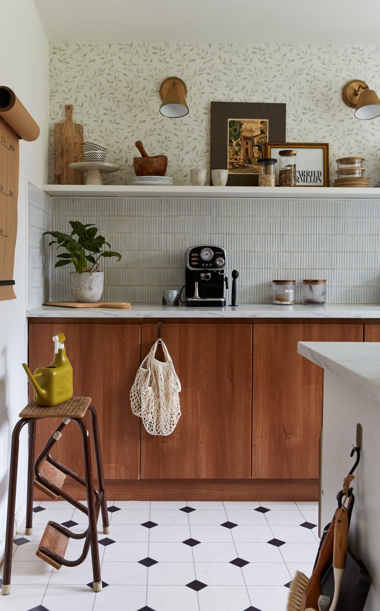
M 0 117 L 0 301 L 16 299 L 13 285 L 17 235 L 18 135 Z

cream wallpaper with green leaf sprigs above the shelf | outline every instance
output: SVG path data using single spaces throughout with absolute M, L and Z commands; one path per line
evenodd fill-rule
M 190 168 L 209 171 L 210 101 L 287 104 L 287 141 L 329 142 L 335 159 L 364 155 L 370 186 L 380 180 L 380 119 L 360 121 L 342 101 L 347 81 L 361 78 L 380 95 L 380 46 L 59 42 L 50 45 L 50 177 L 54 125 L 73 104 L 84 138 L 108 148 L 120 164 L 104 183 L 126 184 L 142 140 L 148 154 L 168 156 L 167 175 L 190 184 Z M 190 112 L 160 115 L 159 86 L 167 76 L 187 84 Z M 209 180 L 209 177 L 207 178 Z

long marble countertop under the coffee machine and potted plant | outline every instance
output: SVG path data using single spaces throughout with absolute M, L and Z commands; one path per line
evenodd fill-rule
M 27 310 L 30 318 L 380 318 L 379 305 L 270 305 L 232 307 L 170 307 L 132 304 L 130 310 L 41 305 Z

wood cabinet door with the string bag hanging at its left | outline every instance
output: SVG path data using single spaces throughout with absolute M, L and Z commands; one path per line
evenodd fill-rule
M 157 324 L 142 324 L 142 355 Z M 181 418 L 156 437 L 142 426 L 143 478 L 249 478 L 252 325 L 162 323 L 181 381 Z

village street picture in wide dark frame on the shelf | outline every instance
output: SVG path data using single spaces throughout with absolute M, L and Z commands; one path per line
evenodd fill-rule
M 211 102 L 210 169 L 228 170 L 228 186 L 257 186 L 257 162 L 268 141 L 285 142 L 285 122 L 286 104 Z

